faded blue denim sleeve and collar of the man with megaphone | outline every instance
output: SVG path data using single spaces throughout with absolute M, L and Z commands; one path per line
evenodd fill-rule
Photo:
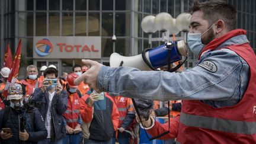
M 232 50 L 221 48 L 248 42 L 243 34 L 232 37 L 215 50 L 205 52 L 194 68 L 181 73 L 102 66 L 97 86 L 110 95 L 124 97 L 160 101 L 201 100 L 213 107 L 235 105 L 247 89 L 249 66 Z M 206 61 L 215 64 L 216 72 L 201 66 Z

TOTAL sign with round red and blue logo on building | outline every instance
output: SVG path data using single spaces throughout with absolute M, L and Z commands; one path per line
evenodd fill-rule
M 100 59 L 101 37 L 34 37 L 38 59 Z

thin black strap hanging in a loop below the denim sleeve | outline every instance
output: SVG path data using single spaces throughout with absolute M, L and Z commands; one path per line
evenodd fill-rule
M 134 98 L 132 98 L 132 102 L 133 102 L 133 105 L 134 105 L 134 107 L 135 107 L 135 111 L 136 111 L 136 113 L 137 113 L 137 115 L 138 115 L 138 117 L 139 117 L 140 123 L 142 123 L 142 119 L 140 118 L 139 109 L 137 108 L 137 105 L 136 105 L 136 103 L 135 103 Z M 145 130 L 145 126 L 144 126 L 144 124 L 142 123 L 143 129 L 145 130 L 146 136 L 148 137 L 149 141 L 154 140 L 154 139 L 158 139 L 159 137 L 162 137 L 162 136 L 164 136 L 164 135 L 167 135 L 167 134 L 170 132 L 170 131 L 169 131 L 169 126 L 170 126 L 170 121 L 169 121 L 170 115 L 169 115 L 169 113 L 170 113 L 170 110 L 169 110 L 169 101 L 168 101 L 168 130 L 167 130 L 166 132 L 164 132 L 164 133 L 161 133 L 161 134 L 157 135 L 157 136 L 149 137 L 149 136 L 148 136 L 148 133 L 147 133 L 146 130 Z M 149 119 L 150 119 L 150 117 L 149 117 Z

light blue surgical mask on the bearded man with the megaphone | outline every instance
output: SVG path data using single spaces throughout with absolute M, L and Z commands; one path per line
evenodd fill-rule
M 215 24 L 213 24 L 213 25 L 215 25 Z M 207 31 L 209 31 L 210 28 L 213 27 L 213 25 L 211 27 L 209 27 L 206 31 L 204 31 L 203 34 L 205 34 Z M 196 56 L 199 56 L 199 53 L 205 46 L 203 43 L 201 43 L 201 36 L 203 36 L 203 34 L 201 34 L 201 33 L 188 33 L 187 34 L 188 47 L 190 48 L 191 52 L 194 53 L 194 55 L 196 55 Z

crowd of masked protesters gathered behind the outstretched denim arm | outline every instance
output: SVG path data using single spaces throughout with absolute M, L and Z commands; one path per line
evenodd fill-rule
M 73 81 L 88 70 L 86 66 L 75 65 L 72 72 L 62 72 L 59 77 L 55 65 L 41 66 L 39 70 L 27 66 L 26 78 L 12 83 L 7 97 L 3 97 L 10 69 L 1 69 L 2 143 L 139 142 L 139 124 L 131 98 L 98 94 L 84 82 L 75 85 Z M 33 110 L 28 111 L 27 105 Z M 167 108 L 165 105 L 156 110 L 155 116 L 167 116 Z M 25 120 L 24 127 L 21 119 Z

